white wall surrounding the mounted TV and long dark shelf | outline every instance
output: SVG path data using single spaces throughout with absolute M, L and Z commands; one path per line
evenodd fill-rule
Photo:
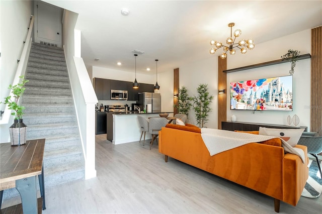
M 310 29 L 298 32 L 286 37 L 257 44 L 255 49 L 241 55 L 227 56 L 227 69 L 242 67 L 280 59 L 288 49 L 300 51 L 300 55 L 311 53 Z M 227 74 L 227 91 L 229 83 L 234 81 L 252 80 L 258 78 L 289 75 L 290 62 L 278 65 L 266 66 L 256 69 L 238 71 Z M 228 92 L 229 93 L 229 92 Z M 268 123 L 286 125 L 287 116 L 295 114 L 300 119 L 299 126 L 310 126 L 310 59 L 297 61 L 293 74 L 293 111 L 238 111 L 230 110 L 230 97 L 227 98 L 227 120 L 231 115 L 237 117 L 240 122 Z

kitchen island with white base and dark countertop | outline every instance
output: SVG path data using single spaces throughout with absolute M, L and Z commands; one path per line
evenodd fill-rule
M 137 116 L 148 119 L 150 117 L 159 117 L 160 113 L 107 113 L 107 140 L 115 145 L 139 141 L 141 127 L 137 120 Z M 173 117 L 173 112 L 167 113 L 169 113 L 169 117 Z M 147 139 L 151 139 L 149 133 L 146 133 L 145 135 L 145 140 Z

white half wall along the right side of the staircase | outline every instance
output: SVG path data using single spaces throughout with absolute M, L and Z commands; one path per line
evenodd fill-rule
M 69 81 L 75 103 L 79 134 L 85 156 L 85 178 L 96 176 L 95 170 L 95 104 L 97 97 L 82 58 L 74 57 L 76 46 L 81 46 L 81 34 L 74 31 L 78 14 L 64 11 L 63 41 Z M 76 34 L 75 34 L 76 32 Z M 75 38 L 75 36 L 78 38 Z

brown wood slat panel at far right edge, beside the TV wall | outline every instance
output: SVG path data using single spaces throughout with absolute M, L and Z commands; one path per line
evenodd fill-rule
M 311 123 L 310 131 L 322 127 L 322 27 L 311 29 Z

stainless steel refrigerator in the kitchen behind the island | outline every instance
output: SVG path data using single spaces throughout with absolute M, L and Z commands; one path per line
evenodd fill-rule
M 147 104 L 152 104 L 152 113 L 161 112 L 161 94 L 160 93 L 151 93 L 151 92 L 142 92 L 139 93 L 139 103 L 141 111 L 147 110 Z

